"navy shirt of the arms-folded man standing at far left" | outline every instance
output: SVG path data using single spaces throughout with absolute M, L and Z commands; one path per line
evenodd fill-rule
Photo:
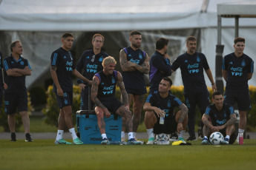
M 24 67 L 29 67 L 31 69 L 29 62 L 27 59 L 22 58 L 22 56 L 19 56 L 19 60 L 16 61 L 16 59 L 13 58 L 13 55 L 11 54 L 9 57 L 4 58 L 4 72 L 6 72 L 8 69 L 24 69 Z M 7 84 L 8 88 L 4 90 L 4 93 L 27 93 L 27 87 L 26 87 L 26 75 L 22 76 L 8 76 L 5 74 L 5 83 Z

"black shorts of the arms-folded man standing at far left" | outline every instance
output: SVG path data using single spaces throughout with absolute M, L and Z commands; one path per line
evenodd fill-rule
M 27 92 L 5 93 L 4 105 L 4 112 L 7 115 L 15 114 L 17 107 L 19 112 L 27 111 Z

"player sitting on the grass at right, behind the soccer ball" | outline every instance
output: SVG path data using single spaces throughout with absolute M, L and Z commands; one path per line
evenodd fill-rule
M 204 137 L 201 145 L 210 144 L 208 137 L 213 132 L 220 132 L 223 136 L 226 136 L 222 144 L 233 144 L 237 137 L 234 128 L 234 122 L 237 120 L 234 107 L 223 103 L 223 95 L 220 92 L 214 92 L 211 101 L 213 104 L 206 107 L 206 112 L 202 117 Z

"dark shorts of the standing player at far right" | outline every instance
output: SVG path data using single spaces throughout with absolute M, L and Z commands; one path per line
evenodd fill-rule
M 237 106 L 239 110 L 247 111 L 251 109 L 251 98 L 250 98 L 249 92 L 245 92 L 243 94 L 234 93 L 232 95 L 229 95 L 228 93 L 225 92 L 223 103 L 228 103 L 234 106 L 235 102 L 237 102 Z

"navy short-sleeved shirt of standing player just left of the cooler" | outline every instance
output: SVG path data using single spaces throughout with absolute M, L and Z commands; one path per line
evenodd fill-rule
M 56 74 L 59 85 L 63 92 L 73 91 L 72 72 L 75 69 L 73 55 L 70 51 L 64 50 L 62 47 L 55 50 L 50 57 L 50 64 L 56 66 Z M 53 83 L 53 92 L 56 92 L 56 85 Z

